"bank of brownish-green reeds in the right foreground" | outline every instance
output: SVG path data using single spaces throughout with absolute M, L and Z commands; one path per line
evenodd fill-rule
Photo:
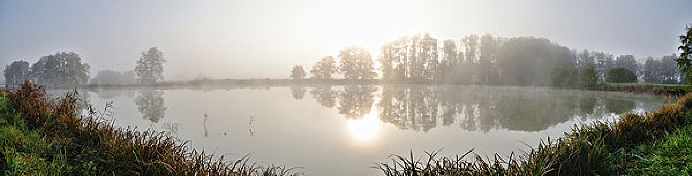
M 646 114 L 629 113 L 619 121 L 574 126 L 560 139 L 547 139 L 525 153 L 492 158 L 471 152 L 457 157 L 392 156 L 377 168 L 386 175 L 621 175 L 636 172 L 639 160 L 628 153 L 668 150 L 654 143 L 660 137 L 692 125 L 692 95 Z M 652 144 L 650 149 L 637 149 Z M 689 150 L 686 148 L 684 150 Z M 631 156 L 631 155 L 630 155 Z M 472 157 L 472 158 L 468 158 Z M 657 168 L 658 169 L 658 168 Z M 661 168 L 662 169 L 662 168 Z M 688 168 L 685 168 L 688 169 Z

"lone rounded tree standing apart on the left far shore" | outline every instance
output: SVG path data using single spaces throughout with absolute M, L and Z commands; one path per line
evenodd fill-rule
M 134 68 L 138 81 L 145 84 L 163 81 L 163 63 L 166 62 L 163 58 L 163 52 L 152 47 L 143 51 L 141 55 L 137 60 L 137 66 Z

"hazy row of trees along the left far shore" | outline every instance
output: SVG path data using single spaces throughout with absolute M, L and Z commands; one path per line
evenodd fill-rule
M 6 87 L 16 86 L 24 81 L 46 86 L 76 86 L 80 84 L 151 84 L 163 81 L 163 52 L 149 48 L 141 52 L 134 71 L 114 72 L 102 70 L 91 79 L 91 66 L 82 63 L 75 52 L 57 52 L 55 55 L 41 57 L 30 65 L 27 61 L 12 61 L 5 66 L 3 77 Z

